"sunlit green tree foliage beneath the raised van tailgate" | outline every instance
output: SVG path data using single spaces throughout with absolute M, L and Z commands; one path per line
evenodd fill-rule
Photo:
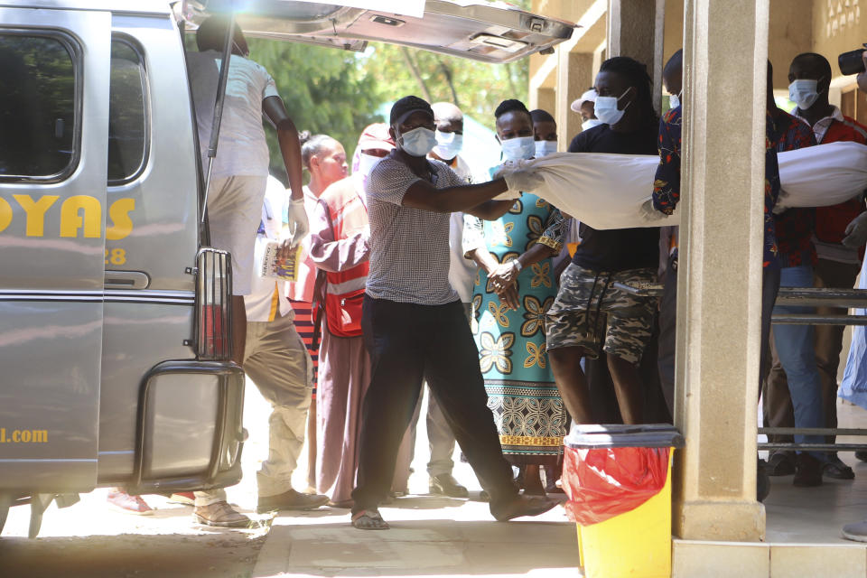
M 529 9 L 529 0 L 513 1 Z M 454 102 L 465 115 L 494 128 L 494 109 L 506 98 L 527 101 L 527 59 L 486 64 L 429 51 L 371 42 L 363 53 L 294 42 L 252 39 L 250 58 L 274 77 L 299 132 L 331 135 L 352 154 L 361 130 L 382 122 L 377 110 L 408 94 Z M 284 172 L 275 132 L 266 125 L 273 172 Z

